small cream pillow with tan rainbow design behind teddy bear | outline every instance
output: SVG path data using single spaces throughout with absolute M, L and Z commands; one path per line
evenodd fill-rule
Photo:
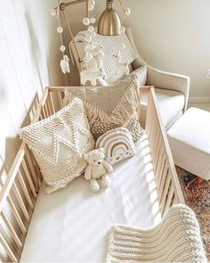
M 98 138 L 95 147 L 104 148 L 106 159 L 110 164 L 129 158 L 135 154 L 132 136 L 125 127 L 109 130 Z

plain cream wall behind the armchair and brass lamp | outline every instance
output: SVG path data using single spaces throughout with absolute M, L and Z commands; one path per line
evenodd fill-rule
M 210 79 L 206 79 L 206 70 L 210 68 L 210 1 L 126 0 L 125 3 L 132 10 L 126 22 L 133 28 L 144 60 L 159 69 L 190 76 L 190 97 L 210 102 Z M 97 17 L 104 6 L 105 0 L 96 1 Z M 69 11 L 75 32 L 82 29 L 79 22 L 83 8 L 85 5 L 78 4 Z

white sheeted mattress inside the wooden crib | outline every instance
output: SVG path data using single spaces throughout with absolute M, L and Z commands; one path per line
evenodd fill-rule
M 143 136 L 136 155 L 114 166 L 112 185 L 92 193 L 84 177 L 66 188 L 38 194 L 21 261 L 104 262 L 114 224 L 141 228 L 160 220 L 156 185 Z

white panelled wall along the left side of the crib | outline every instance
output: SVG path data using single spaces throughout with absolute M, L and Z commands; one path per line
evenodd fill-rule
M 0 1 L 0 183 L 20 145 L 18 129 L 44 86 L 66 85 L 58 62 L 56 0 Z M 1 185 L 1 184 L 0 184 Z

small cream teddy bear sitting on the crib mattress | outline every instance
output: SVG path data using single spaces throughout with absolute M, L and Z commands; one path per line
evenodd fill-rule
M 98 179 L 100 178 L 103 187 L 108 187 L 111 184 L 107 172 L 113 171 L 113 168 L 104 158 L 104 148 L 84 154 L 84 159 L 87 162 L 85 179 L 90 181 L 90 188 L 93 192 L 98 192 L 100 190 L 100 185 L 98 183 Z

